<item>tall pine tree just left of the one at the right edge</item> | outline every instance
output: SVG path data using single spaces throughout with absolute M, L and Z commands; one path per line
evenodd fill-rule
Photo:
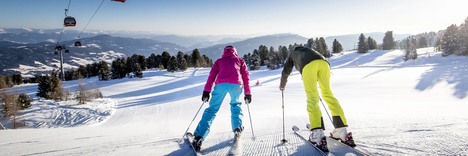
M 442 34 L 442 56 L 453 54 L 457 50 L 457 41 L 455 34 L 457 33 L 457 25 L 452 24 Z

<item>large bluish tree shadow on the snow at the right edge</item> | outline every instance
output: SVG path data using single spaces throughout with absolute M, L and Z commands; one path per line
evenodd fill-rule
M 421 75 L 416 89 L 431 89 L 440 82 L 455 84 L 453 96 L 463 99 L 468 94 L 468 65 L 434 66 Z

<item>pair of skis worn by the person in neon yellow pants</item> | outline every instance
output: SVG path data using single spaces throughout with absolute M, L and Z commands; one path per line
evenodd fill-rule
M 307 129 L 310 129 L 308 124 L 306 125 L 306 127 L 307 127 Z M 312 141 L 309 140 L 309 137 L 307 135 L 304 135 L 303 133 L 300 133 L 299 128 L 297 126 L 292 126 L 292 131 L 294 131 L 294 133 L 299 135 L 300 138 L 302 138 L 303 140 L 310 143 L 315 149 L 320 151 L 322 153 L 322 156 L 335 156 L 330 152 L 323 152 L 322 150 L 320 150 Z M 336 142 L 338 144 L 344 145 L 345 147 L 347 147 L 349 149 L 352 149 L 352 150 L 354 150 L 354 151 L 356 151 L 356 152 L 358 152 L 358 153 L 360 153 L 360 154 L 362 154 L 364 156 L 374 156 L 371 152 L 367 151 L 366 149 L 362 149 L 362 148 L 360 148 L 358 146 L 351 147 L 351 146 L 349 146 L 349 145 L 347 145 L 347 144 L 345 144 L 345 143 L 343 143 L 343 142 L 341 142 L 339 140 L 333 139 L 333 138 L 328 137 L 328 136 L 327 136 L 327 141 L 334 141 L 334 142 Z

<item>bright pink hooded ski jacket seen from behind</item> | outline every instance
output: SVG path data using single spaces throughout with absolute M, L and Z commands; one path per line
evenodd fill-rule
M 249 69 L 244 59 L 237 57 L 237 51 L 234 47 L 226 47 L 221 59 L 214 62 L 204 91 L 211 92 L 213 82 L 215 84 L 241 84 L 245 89 L 244 94 L 250 94 Z

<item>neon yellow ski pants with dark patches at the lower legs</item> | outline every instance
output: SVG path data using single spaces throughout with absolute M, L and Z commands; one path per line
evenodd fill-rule
M 302 81 L 307 95 L 307 111 L 309 113 L 310 128 L 324 129 L 322 111 L 319 107 L 319 93 L 317 81 L 320 84 L 323 100 L 328 104 L 333 117 L 333 126 L 341 128 L 348 126 L 344 118 L 344 112 L 338 100 L 333 97 L 330 85 L 330 65 L 327 61 L 317 59 L 307 64 L 302 69 Z

